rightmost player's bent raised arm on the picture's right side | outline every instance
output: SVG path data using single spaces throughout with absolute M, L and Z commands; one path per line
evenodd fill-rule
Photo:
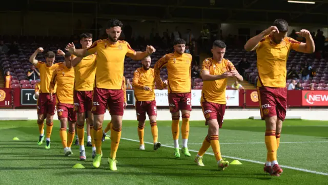
M 310 31 L 302 29 L 300 32 L 296 32 L 296 34 L 304 37 L 306 39 L 306 43 L 300 43 L 297 41 L 292 42 L 292 49 L 303 53 L 313 53 L 315 51 L 315 45 Z

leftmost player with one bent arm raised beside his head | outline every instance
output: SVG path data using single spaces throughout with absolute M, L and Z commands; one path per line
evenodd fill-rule
M 36 55 L 39 52 L 43 52 L 42 47 L 37 48 L 30 57 L 30 62 L 39 69 L 40 71 L 40 93 L 37 101 L 37 124 L 39 126 L 39 140 L 38 145 L 41 145 L 44 140 L 44 120 L 46 119 L 47 128 L 46 128 L 46 149 L 50 149 L 50 136 L 53 126 L 53 115 L 55 114 L 56 108 L 56 95 L 52 95 L 52 100 L 50 100 L 49 95 L 49 84 L 53 70 L 58 67 L 58 64 L 54 64 L 55 53 L 49 51 L 45 54 L 46 63 L 35 60 Z M 54 91 L 55 92 L 55 91 Z

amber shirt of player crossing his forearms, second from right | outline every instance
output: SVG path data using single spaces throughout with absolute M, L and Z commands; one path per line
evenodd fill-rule
M 207 70 L 210 75 L 222 75 L 224 72 L 235 69 L 234 65 L 227 59 L 221 62 L 213 58 L 207 58 L 203 61 L 202 71 Z M 201 91 L 201 102 L 208 101 L 219 104 L 226 104 L 226 88 L 228 79 L 218 79 L 215 81 L 203 81 Z

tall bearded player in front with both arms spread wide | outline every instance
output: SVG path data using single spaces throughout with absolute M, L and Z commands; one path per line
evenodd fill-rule
M 103 121 L 106 107 L 110 109 L 113 127 L 111 130 L 111 154 L 108 158 L 109 168 L 116 171 L 116 152 L 121 136 L 122 115 L 124 113 L 124 90 L 122 89 L 122 77 L 124 73 L 125 56 L 133 60 L 141 60 L 155 52 L 155 48 L 147 46 L 146 51 L 136 52 L 125 41 L 118 40 L 123 24 L 112 19 L 108 22 L 106 33 L 108 39 L 98 40 L 87 49 L 75 49 L 73 43 L 68 44 L 66 49 L 77 57 L 86 57 L 97 52 L 96 79 L 93 90 L 94 114 L 93 133 L 96 145 L 96 156 L 93 166 L 98 168 L 103 153 L 101 152 L 101 138 L 103 137 Z

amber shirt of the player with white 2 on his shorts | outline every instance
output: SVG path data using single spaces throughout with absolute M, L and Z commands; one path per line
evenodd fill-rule
M 166 54 L 169 93 L 191 92 L 191 60 L 189 53 Z

